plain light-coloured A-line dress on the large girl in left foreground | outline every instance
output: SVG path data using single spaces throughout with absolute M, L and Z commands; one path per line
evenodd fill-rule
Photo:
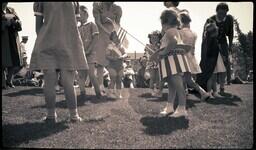
M 30 69 L 88 69 L 73 2 L 35 2 L 34 13 L 44 18 L 32 52 Z

